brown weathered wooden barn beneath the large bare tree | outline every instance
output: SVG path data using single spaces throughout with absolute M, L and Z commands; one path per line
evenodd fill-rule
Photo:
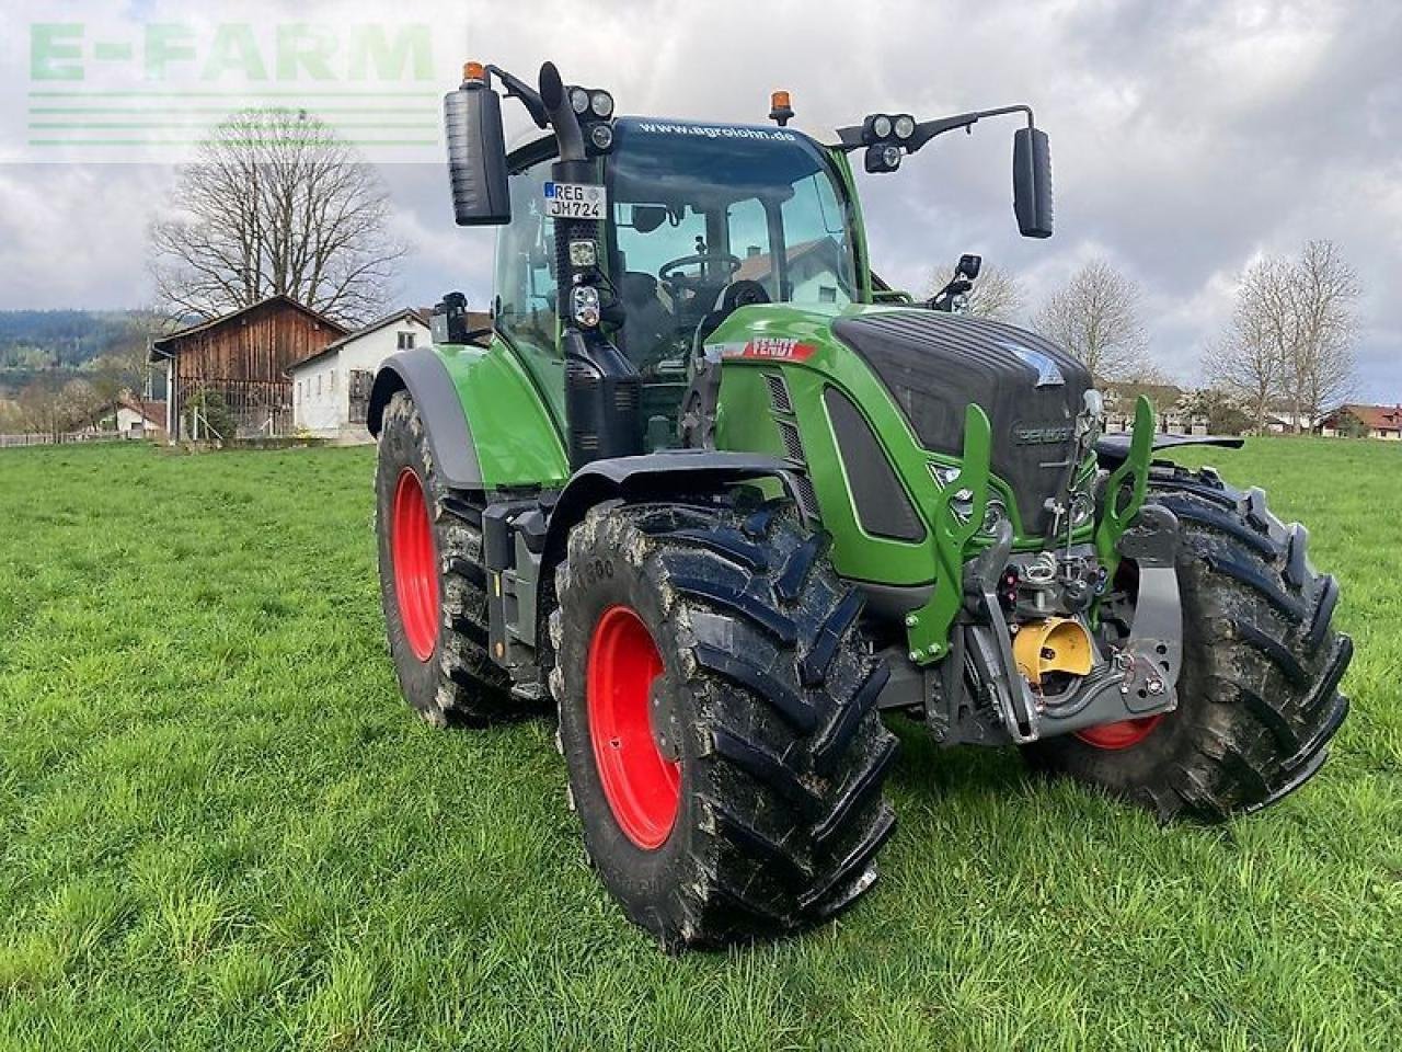
M 167 377 L 165 433 L 172 442 L 210 438 L 215 419 L 226 428 L 231 421 L 243 438 L 289 433 L 287 366 L 345 334 L 290 296 L 271 296 L 153 341 L 151 362 L 164 365 Z

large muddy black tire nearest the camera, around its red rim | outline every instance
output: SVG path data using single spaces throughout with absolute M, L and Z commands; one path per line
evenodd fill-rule
M 571 804 L 606 886 L 669 948 L 781 934 L 875 879 L 894 825 L 887 672 L 824 548 L 773 505 L 606 505 L 569 537 L 551 689 Z M 618 607 L 653 640 L 680 755 L 676 816 L 651 849 L 620 822 L 590 734 L 590 648 Z

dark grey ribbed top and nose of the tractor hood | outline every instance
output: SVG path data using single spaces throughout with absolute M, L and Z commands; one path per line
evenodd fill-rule
M 965 407 L 983 407 L 993 471 L 1012 488 L 1023 529 L 1049 529 L 1043 505 L 1066 485 L 1091 387 L 1084 365 L 1014 325 L 932 310 L 850 314 L 833 321 L 833 335 L 882 380 L 931 452 L 958 456 Z

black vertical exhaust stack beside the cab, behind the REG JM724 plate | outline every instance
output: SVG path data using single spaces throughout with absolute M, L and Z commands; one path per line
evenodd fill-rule
M 594 182 L 594 164 L 585 156 L 579 118 L 569 105 L 559 70 L 550 62 L 540 67 L 540 100 L 555 130 L 559 153 L 551 177 L 557 184 Z M 576 317 L 575 290 L 597 289 L 600 283 L 603 224 L 597 219 L 565 216 L 557 216 L 554 223 L 569 466 L 578 470 L 592 460 L 642 453 L 642 380 L 634 365 L 599 331 L 597 310 L 593 324 Z M 571 251 L 571 244 L 582 243 L 589 243 L 592 251 Z

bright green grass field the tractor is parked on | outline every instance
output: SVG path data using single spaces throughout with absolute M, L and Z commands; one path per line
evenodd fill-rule
M 0 453 L 0 1049 L 1402 1044 L 1402 446 L 1211 450 L 1343 582 L 1323 773 L 1172 826 L 904 742 L 861 906 L 665 957 L 545 721 L 398 700 L 373 450 Z

